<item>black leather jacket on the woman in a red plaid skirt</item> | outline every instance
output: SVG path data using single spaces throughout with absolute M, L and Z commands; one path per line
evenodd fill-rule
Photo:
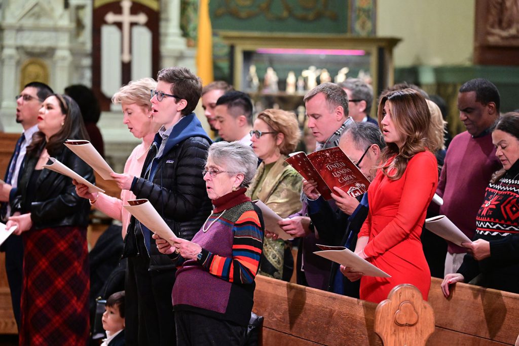
M 31 213 L 35 229 L 59 226 L 86 228 L 89 222 L 90 205 L 87 199 L 77 196 L 72 179 L 65 175 L 43 169 L 36 182 L 38 188 L 34 193 L 34 201 L 30 205 L 26 201 L 27 184 L 43 148 L 44 145 L 39 148 L 38 155 L 25 156 L 23 167 L 20 169 L 16 197 L 11 202 L 12 211 L 20 211 L 22 214 Z M 54 155 L 54 158 L 87 181 L 95 182 L 92 169 L 65 146 L 59 154 Z

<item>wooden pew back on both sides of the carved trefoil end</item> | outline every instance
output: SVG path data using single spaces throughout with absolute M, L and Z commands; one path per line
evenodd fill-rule
M 513 345 L 519 334 L 519 295 L 457 284 L 443 297 L 432 279 L 435 330 L 427 345 Z M 375 303 L 256 276 L 254 313 L 264 316 L 263 345 L 381 345 Z

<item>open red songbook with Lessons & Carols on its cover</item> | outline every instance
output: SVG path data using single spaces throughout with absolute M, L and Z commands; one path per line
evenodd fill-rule
M 367 191 L 370 181 L 339 147 L 322 149 L 309 155 L 299 151 L 285 160 L 306 180 L 317 182 L 317 191 L 325 200 L 332 199 L 337 186 L 351 197 Z

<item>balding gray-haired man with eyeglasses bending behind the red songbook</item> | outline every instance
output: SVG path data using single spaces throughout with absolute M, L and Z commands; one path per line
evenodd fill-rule
M 386 147 L 378 126 L 370 122 L 352 123 L 340 137 L 339 147 L 372 181 L 377 173 L 380 153 Z M 334 188 L 332 197 L 338 210 L 319 195 L 313 182 L 303 182 L 303 191 L 308 197 L 310 218 L 319 230 L 321 241 L 329 245 L 345 246 L 354 251 L 359 230 L 367 217 L 367 193 L 353 198 L 339 188 Z M 341 272 L 337 263 L 332 264 L 327 290 L 337 294 L 359 298 L 360 281 L 351 282 Z

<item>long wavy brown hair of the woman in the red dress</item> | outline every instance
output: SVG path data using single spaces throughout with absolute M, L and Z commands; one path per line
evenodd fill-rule
M 395 90 L 384 93 L 380 97 L 378 104 L 378 123 L 380 129 L 383 128 L 381 122 L 385 116 L 384 106 L 386 102 L 391 105 L 391 120 L 395 129 L 400 132 L 404 139 L 404 144 L 399 148 L 395 143 L 388 143 L 383 151 L 380 167 L 382 172 L 391 180 L 402 177 L 407 167 L 407 163 L 413 156 L 421 151 L 438 150 L 438 144 L 434 140 L 433 128 L 430 126 L 431 113 L 427 102 L 418 91 L 413 89 Z M 389 159 L 394 159 L 388 163 Z M 389 172 L 394 170 L 391 175 Z

